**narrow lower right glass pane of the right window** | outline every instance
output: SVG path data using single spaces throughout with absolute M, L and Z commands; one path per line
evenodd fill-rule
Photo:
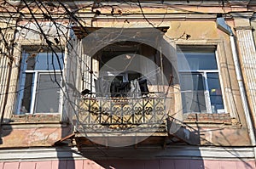
M 212 113 L 220 113 L 224 110 L 221 88 L 218 73 L 207 73 Z

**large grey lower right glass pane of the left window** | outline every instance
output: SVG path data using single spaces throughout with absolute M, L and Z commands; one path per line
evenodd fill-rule
M 57 82 L 61 82 L 61 75 L 55 74 Z M 38 74 L 38 90 L 35 113 L 58 113 L 60 87 L 57 85 L 54 74 Z

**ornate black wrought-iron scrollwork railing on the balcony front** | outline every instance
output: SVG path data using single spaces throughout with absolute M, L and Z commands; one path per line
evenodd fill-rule
M 164 94 L 139 98 L 84 97 L 79 99 L 78 126 L 96 132 L 106 127 L 158 127 L 166 119 L 165 108 Z

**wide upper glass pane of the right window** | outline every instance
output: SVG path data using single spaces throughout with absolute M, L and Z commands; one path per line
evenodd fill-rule
M 179 70 L 218 70 L 214 52 L 177 53 Z

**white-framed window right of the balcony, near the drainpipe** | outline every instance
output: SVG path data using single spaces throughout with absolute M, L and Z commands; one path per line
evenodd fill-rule
M 177 52 L 184 113 L 224 113 L 214 48 Z

